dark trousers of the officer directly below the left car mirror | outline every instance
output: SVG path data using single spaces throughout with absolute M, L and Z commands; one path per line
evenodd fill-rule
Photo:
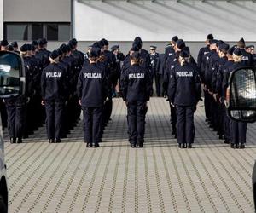
M 9 137 L 22 138 L 25 128 L 26 104 L 18 101 L 5 101 L 8 116 Z

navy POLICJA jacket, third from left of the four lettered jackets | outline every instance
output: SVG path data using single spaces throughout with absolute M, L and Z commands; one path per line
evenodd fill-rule
M 148 101 L 152 91 L 152 81 L 147 69 L 132 65 L 121 75 L 121 90 L 124 101 Z

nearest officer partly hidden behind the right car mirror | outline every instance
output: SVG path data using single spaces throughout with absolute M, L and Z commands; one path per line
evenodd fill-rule
M 228 85 L 228 79 L 230 72 L 243 67 L 243 55 L 239 48 L 236 48 L 233 52 L 234 63 L 229 66 L 226 76 L 224 78 L 224 85 Z M 235 121 L 230 119 L 230 147 L 231 148 L 245 148 L 247 134 L 247 123 Z

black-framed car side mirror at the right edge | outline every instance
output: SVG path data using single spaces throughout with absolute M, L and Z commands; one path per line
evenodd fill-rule
M 256 121 L 256 77 L 252 67 L 230 73 L 226 97 L 231 119 L 248 123 Z

